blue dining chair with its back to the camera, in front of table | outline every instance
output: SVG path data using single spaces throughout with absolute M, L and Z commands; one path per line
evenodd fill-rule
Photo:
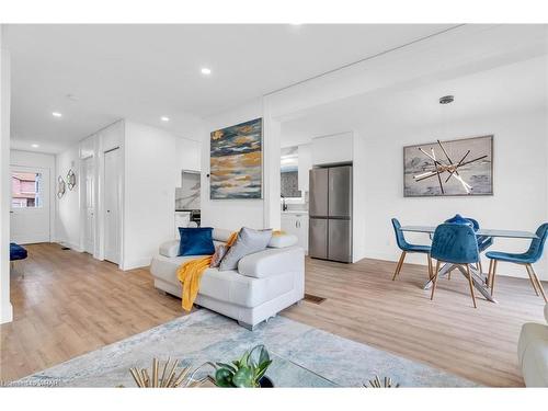
M 472 275 L 470 273 L 470 264 L 476 264 L 479 261 L 478 240 L 476 239 L 473 228 L 470 225 L 455 222 L 444 222 L 437 226 L 434 231 L 434 239 L 432 240 L 431 255 L 433 259 L 436 259 L 436 269 L 432 278 L 432 295 L 430 299 L 434 299 L 439 264 L 442 262 L 452 263 L 466 267 L 473 308 L 477 308 Z

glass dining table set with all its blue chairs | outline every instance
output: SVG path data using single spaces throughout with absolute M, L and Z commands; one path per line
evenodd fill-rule
M 423 284 L 430 290 L 430 299 L 435 298 L 436 288 L 442 279 L 450 281 L 452 275 L 460 274 L 468 284 L 473 308 L 478 308 L 478 294 L 488 302 L 496 304 L 495 285 L 500 263 L 517 264 L 527 273 L 535 295 L 548 302 L 546 292 L 534 269 L 544 252 L 548 237 L 548 222 L 539 225 L 535 231 L 482 228 L 471 217 L 455 215 L 437 226 L 401 225 L 391 219 L 396 243 L 401 251 L 392 275 L 398 279 L 402 273 L 406 256 L 411 253 L 424 254 L 427 262 L 427 275 Z M 430 244 L 411 243 L 406 233 L 424 233 Z M 524 241 L 525 252 L 507 252 L 495 249 L 496 239 Z M 489 261 L 483 266 L 482 256 Z

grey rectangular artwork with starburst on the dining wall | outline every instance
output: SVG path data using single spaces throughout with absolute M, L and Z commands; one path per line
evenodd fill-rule
M 403 149 L 404 196 L 492 195 L 493 136 Z

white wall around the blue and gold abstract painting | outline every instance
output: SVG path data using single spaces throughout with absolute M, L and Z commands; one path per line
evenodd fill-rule
M 243 226 L 263 228 L 264 226 L 264 201 L 263 199 L 209 199 L 209 134 L 219 128 L 233 126 L 253 118 L 263 117 L 261 100 L 236 107 L 229 112 L 221 113 L 205 122 L 202 140 L 202 225 L 204 227 L 219 227 L 237 230 Z M 264 142 L 264 141 L 263 141 Z M 263 145 L 264 147 L 264 145 Z M 279 147 L 278 147 L 279 150 Z M 279 156 L 277 157 L 279 167 Z M 263 175 L 266 172 L 263 163 Z M 279 180 L 279 172 L 278 172 Z M 264 185 L 263 185 L 264 195 Z M 279 209 L 279 190 L 277 207 Z M 279 214 L 279 213 L 278 213 Z M 279 218 L 279 217 L 278 217 Z

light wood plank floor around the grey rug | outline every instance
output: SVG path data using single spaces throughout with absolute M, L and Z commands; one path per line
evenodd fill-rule
M 148 270 L 122 272 L 56 244 L 28 250 L 30 258 L 19 265 L 24 278 L 12 275 L 14 321 L 0 326 L 4 381 L 183 315 L 179 299 L 152 287 Z M 327 300 L 304 302 L 283 315 L 483 385 L 523 385 L 516 361 L 520 328 L 541 321 L 544 307 L 528 281 L 499 276 L 500 304 L 480 298 L 475 310 L 457 273 L 438 283 L 431 301 L 421 288 L 426 269 L 406 264 L 392 282 L 395 265 L 307 259 L 306 292 Z

